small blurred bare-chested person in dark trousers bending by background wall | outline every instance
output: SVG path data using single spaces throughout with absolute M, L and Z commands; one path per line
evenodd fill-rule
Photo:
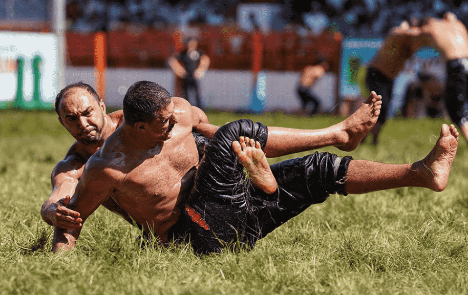
M 297 91 L 301 99 L 302 111 L 309 115 L 316 114 L 320 107 L 320 101 L 317 96 L 311 92 L 310 87 L 325 75 L 328 68 L 328 63 L 319 61 L 314 65 L 305 66 L 300 73 Z

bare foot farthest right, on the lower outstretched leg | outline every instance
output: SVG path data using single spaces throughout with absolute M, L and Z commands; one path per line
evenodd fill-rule
M 442 191 L 447 186 L 448 172 L 457 153 L 458 131 L 455 126 L 442 125 L 440 137 L 434 148 L 421 161 L 414 163 L 411 170 L 419 171 L 423 187 Z

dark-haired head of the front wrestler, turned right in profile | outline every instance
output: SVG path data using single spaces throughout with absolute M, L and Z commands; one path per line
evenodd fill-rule
M 159 84 L 140 81 L 131 85 L 123 102 L 125 124 L 152 140 L 167 140 L 177 120 L 169 92 Z

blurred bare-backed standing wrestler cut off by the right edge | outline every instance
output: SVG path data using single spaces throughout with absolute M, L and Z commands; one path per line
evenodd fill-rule
M 421 27 L 422 42 L 435 47 L 447 64 L 445 104 L 452 121 L 468 141 L 468 33 L 448 12 L 442 19 L 427 18 Z

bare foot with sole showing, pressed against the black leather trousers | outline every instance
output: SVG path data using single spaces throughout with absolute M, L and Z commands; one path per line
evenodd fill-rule
M 249 171 L 249 177 L 255 187 L 272 194 L 277 190 L 277 182 L 260 143 L 241 136 L 233 141 L 233 149 L 239 162 Z

